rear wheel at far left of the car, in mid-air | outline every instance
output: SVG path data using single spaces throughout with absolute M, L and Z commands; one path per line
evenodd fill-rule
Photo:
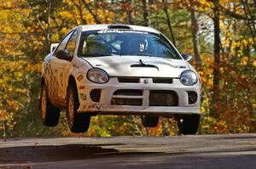
M 42 115 L 42 121 L 46 127 L 57 126 L 60 119 L 60 111 L 58 108 L 53 106 L 50 101 L 46 91 L 45 84 L 43 84 L 40 99 L 40 110 Z

